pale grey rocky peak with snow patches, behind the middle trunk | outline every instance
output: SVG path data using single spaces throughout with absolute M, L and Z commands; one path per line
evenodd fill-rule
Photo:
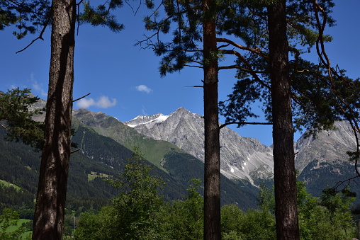
M 123 122 L 147 137 L 171 142 L 180 149 L 204 161 L 204 122 L 201 115 L 179 108 L 170 115 L 161 113 Z M 269 147 L 254 138 L 241 137 L 223 127 L 220 130 L 220 168 L 227 178 L 271 178 L 273 157 Z

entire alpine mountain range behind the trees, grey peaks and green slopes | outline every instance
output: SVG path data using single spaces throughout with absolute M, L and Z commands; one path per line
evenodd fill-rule
M 45 103 L 40 99 L 30 109 L 44 108 Z M 35 118 L 42 121 L 45 114 Z M 169 115 L 138 115 L 128 122 L 120 122 L 101 112 L 74 109 L 72 123 L 77 132 L 72 141 L 81 149 L 72 156 L 74 160 L 70 161 L 73 162 L 73 166 L 79 166 L 69 168 L 69 196 L 74 199 L 94 195 L 87 192 L 78 194 L 79 178 L 84 178 L 84 185 L 90 186 L 95 184 L 93 181 L 87 181 L 90 172 L 116 175 L 116 172 L 122 171 L 125 159 L 131 156 L 133 147 L 138 147 L 150 164 L 157 167 L 157 174 L 167 181 L 168 189 L 164 189 L 166 198 L 176 199 L 186 195 L 191 178 L 203 180 L 204 122 L 203 117 L 197 113 L 178 108 Z M 320 196 L 327 185 L 333 186 L 338 181 L 356 176 L 354 163 L 349 162 L 347 156 L 347 152 L 356 148 L 351 127 L 347 122 L 336 122 L 335 126 L 337 130 L 319 132 L 315 138 L 303 135 L 294 142 L 298 179 L 305 181 L 308 193 L 316 197 Z M 8 146 L 5 148 L 9 152 L 8 156 L 14 155 L 13 161 L 21 161 L 19 164 L 30 166 L 26 162 L 29 154 L 33 155 L 30 150 L 20 156 L 19 150 L 9 149 L 6 142 L 3 144 Z M 38 155 L 33 156 L 34 159 L 38 158 L 36 161 L 33 160 L 36 164 L 40 164 Z M 29 171 L 27 174 L 31 172 L 36 175 L 35 172 L 32 173 L 36 171 L 35 166 L 30 167 L 25 168 Z M 223 127 L 220 130 L 220 168 L 222 204 L 235 203 L 244 210 L 257 207 L 259 185 L 273 185 L 272 148 L 261 144 L 258 139 L 241 137 L 230 128 Z M 25 171 L 23 169 L 14 168 L 11 171 Z M 19 173 L 20 180 L 21 174 Z M 9 182 L 20 181 L 12 180 L 5 172 L 0 178 Z M 354 192 L 360 191 L 359 185 L 352 184 L 350 187 Z M 29 190 L 35 191 L 30 188 Z M 95 187 L 93 191 L 96 191 Z M 359 202 L 358 199 L 356 202 Z

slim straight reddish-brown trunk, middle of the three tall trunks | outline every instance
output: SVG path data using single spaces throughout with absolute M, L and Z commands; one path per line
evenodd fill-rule
M 218 58 L 215 55 L 216 29 L 214 8 L 206 0 L 203 8 L 205 189 L 204 239 L 221 239 L 220 234 L 220 144 L 218 120 Z

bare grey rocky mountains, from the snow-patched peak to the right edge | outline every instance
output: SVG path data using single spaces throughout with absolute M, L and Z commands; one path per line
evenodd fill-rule
M 201 115 L 179 108 L 169 115 L 139 115 L 124 124 L 153 139 L 171 142 L 203 161 L 204 125 Z M 335 126 L 337 130 L 319 132 L 315 138 L 303 135 L 294 143 L 299 179 L 307 183 L 313 195 L 320 195 L 326 185 L 333 186 L 355 176 L 354 163 L 349 162 L 347 156 L 347 152 L 356 147 L 353 132 L 347 122 L 336 122 Z M 271 147 L 257 139 L 241 137 L 227 127 L 220 130 L 220 144 L 221 172 L 227 178 L 245 179 L 254 185 L 261 182 L 272 184 Z M 354 183 L 350 187 L 360 191 Z

